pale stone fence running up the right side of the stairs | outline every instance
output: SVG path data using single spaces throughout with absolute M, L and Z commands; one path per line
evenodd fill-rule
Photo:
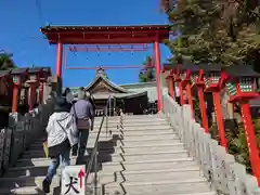
M 161 101 L 164 114 L 218 194 L 260 195 L 257 179 L 195 122 L 190 105 L 180 106 L 167 93 Z

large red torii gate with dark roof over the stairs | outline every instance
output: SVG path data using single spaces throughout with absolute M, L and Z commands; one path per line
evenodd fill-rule
M 159 43 L 169 39 L 169 25 L 144 26 L 46 26 L 41 32 L 57 44 L 56 76 L 62 76 L 63 44 L 154 43 L 158 110 L 161 108 Z

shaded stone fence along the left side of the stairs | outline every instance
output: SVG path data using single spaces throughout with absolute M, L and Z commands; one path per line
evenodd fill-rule
M 10 114 L 9 128 L 0 130 L 0 176 L 16 162 L 35 139 L 42 136 L 53 113 L 53 102 L 50 98 L 25 116 Z

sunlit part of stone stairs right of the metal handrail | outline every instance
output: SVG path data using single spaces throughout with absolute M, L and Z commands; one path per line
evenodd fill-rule
M 162 116 L 125 116 L 109 130 L 119 140 L 99 172 L 103 194 L 216 195 Z

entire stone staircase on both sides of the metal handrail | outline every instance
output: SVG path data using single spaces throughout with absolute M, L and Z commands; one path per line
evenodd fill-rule
M 95 119 L 95 129 L 90 133 L 89 153 L 100 121 L 101 118 Z M 104 127 L 99 140 L 99 194 L 216 195 L 166 118 L 123 116 L 123 129 L 118 128 L 118 117 L 110 117 L 108 121 L 110 133 L 106 134 Z M 16 166 L 0 178 L 0 195 L 43 194 L 41 182 L 50 159 L 44 157 L 42 141 L 36 140 Z M 72 157 L 74 164 L 75 157 Z M 58 185 L 57 174 L 50 194 L 60 194 Z

